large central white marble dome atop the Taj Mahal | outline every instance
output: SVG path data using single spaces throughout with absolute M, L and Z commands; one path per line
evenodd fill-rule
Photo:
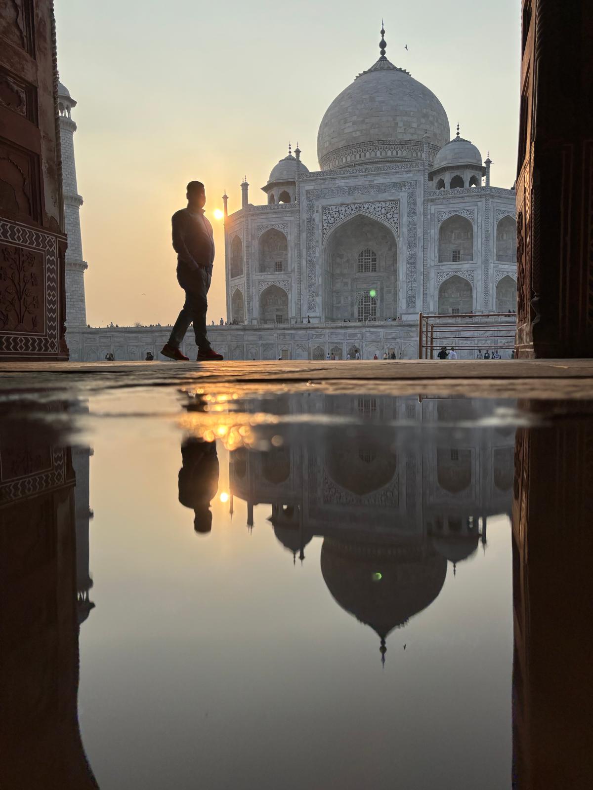
M 319 167 L 352 167 L 369 160 L 421 160 L 449 140 L 449 122 L 434 93 L 382 55 L 327 108 L 317 135 Z

